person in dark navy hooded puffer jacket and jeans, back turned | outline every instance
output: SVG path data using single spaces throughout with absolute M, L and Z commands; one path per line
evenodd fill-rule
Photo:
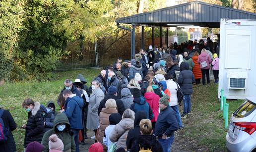
M 187 114 L 190 115 L 191 111 L 191 94 L 193 92 L 192 83 L 194 83 L 194 75 L 191 70 L 189 70 L 189 63 L 182 62 L 181 63 L 181 72 L 178 78 L 178 83 L 182 88 L 184 97 L 184 109 L 183 114 L 181 115 L 182 118 L 187 118 Z

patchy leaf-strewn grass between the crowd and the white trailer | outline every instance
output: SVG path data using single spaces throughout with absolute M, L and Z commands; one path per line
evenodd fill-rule
M 217 99 L 218 85 L 195 85 L 192 94 L 192 118 L 185 119 L 184 134 L 189 139 L 196 139 L 196 144 L 206 151 L 226 151 L 223 112 Z M 227 101 L 229 119 L 243 100 Z M 183 111 L 183 110 L 182 110 Z M 192 121 L 191 121 L 192 119 Z

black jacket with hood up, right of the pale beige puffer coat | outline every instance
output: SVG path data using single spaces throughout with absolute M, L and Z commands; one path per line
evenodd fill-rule
M 134 118 L 134 128 L 129 130 L 129 132 L 127 134 L 126 146 L 127 146 L 128 150 L 131 148 L 133 142 L 140 135 L 139 122 L 142 119 L 146 119 L 147 114 L 145 111 L 138 111 L 137 113 L 135 113 L 134 117 L 135 117 Z

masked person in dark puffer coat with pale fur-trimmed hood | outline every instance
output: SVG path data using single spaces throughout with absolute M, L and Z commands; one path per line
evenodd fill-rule
M 31 142 L 39 142 L 44 136 L 44 117 L 42 110 L 40 109 L 40 103 L 34 102 L 32 99 L 25 99 L 22 103 L 22 107 L 28 112 L 27 124 L 23 125 L 22 128 L 26 129 L 24 148 L 26 149 L 28 144 Z

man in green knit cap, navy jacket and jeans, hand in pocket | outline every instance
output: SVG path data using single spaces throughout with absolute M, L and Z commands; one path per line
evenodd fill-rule
M 155 125 L 155 136 L 158 136 L 158 141 L 163 147 L 164 152 L 170 152 L 174 141 L 174 132 L 178 130 L 178 122 L 175 117 L 175 112 L 169 106 L 170 97 L 165 94 L 159 100 L 160 113 Z

